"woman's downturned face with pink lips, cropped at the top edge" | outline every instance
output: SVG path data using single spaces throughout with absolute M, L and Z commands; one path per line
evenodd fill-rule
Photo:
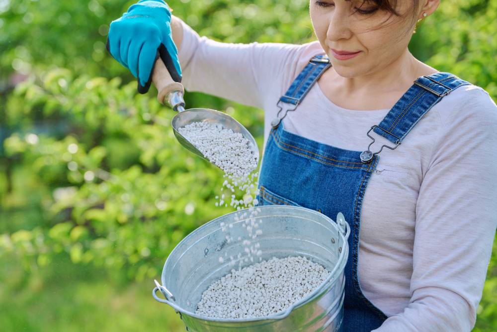
M 352 78 L 383 70 L 406 51 L 414 30 L 414 24 L 411 24 L 412 11 L 417 11 L 413 8 L 414 1 L 397 1 L 394 9 L 400 14 L 407 13 L 405 18 L 385 10 L 375 10 L 374 1 L 362 3 L 363 0 L 311 0 L 309 5 L 314 32 L 332 67 L 342 77 Z M 372 12 L 367 13 L 369 11 Z M 331 49 L 359 51 L 359 54 L 339 60 Z

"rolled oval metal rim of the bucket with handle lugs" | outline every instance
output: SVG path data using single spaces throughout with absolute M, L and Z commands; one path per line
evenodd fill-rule
M 282 310 L 280 312 L 274 313 L 274 314 L 269 315 L 269 316 L 261 316 L 261 317 L 254 317 L 254 318 L 212 318 L 212 317 L 201 316 L 201 315 L 195 314 L 191 311 L 188 311 L 188 310 L 185 310 L 184 308 L 181 308 L 175 302 L 169 301 L 166 297 L 166 293 L 169 293 L 169 294 L 171 294 L 171 293 L 166 289 L 166 287 L 159 285 L 159 284 L 152 290 L 152 296 L 154 297 L 154 299 L 156 299 L 158 302 L 165 303 L 165 304 L 169 305 L 170 307 L 172 307 L 176 311 L 176 313 L 179 312 L 180 315 L 184 314 L 184 315 L 187 315 L 189 317 L 196 318 L 199 320 L 218 322 L 218 323 L 243 323 L 243 322 L 255 322 L 255 321 L 281 320 L 281 319 L 286 318 L 288 315 L 290 315 L 290 313 L 293 310 L 298 309 L 301 306 L 305 305 L 312 298 L 314 298 L 317 294 L 319 294 L 323 290 L 323 288 L 325 288 L 329 283 L 331 283 L 332 279 L 337 279 L 338 276 L 336 274 L 336 271 L 338 269 L 338 266 L 342 265 L 343 262 L 346 263 L 346 261 L 347 261 L 348 252 L 349 252 L 347 239 L 348 239 L 348 236 L 350 234 L 350 226 L 349 226 L 348 222 L 343 219 L 343 215 L 341 213 L 338 213 L 336 219 L 338 220 L 341 218 L 340 223 L 343 222 L 343 228 L 345 228 L 345 232 L 346 232 L 345 234 L 343 234 L 343 229 L 340 229 L 341 226 L 338 224 L 338 222 L 333 221 L 330 217 L 328 217 L 328 216 L 326 216 L 318 211 L 304 208 L 304 207 L 297 207 L 297 206 L 290 206 L 290 205 L 265 205 L 265 206 L 256 206 L 256 207 L 250 207 L 250 208 L 246 208 L 246 209 L 242 209 L 242 210 L 238 210 L 238 211 L 233 211 L 233 212 L 228 213 L 226 215 L 219 216 L 219 217 L 217 217 L 211 221 L 207 221 L 203 225 L 195 228 L 192 232 L 190 232 L 183 239 L 181 239 L 181 241 L 179 241 L 178 244 L 176 244 L 174 249 L 167 256 L 166 262 L 164 263 L 163 271 L 161 274 L 161 282 L 164 285 L 164 279 L 165 279 L 165 275 L 166 275 L 166 266 L 167 266 L 167 263 L 169 261 L 169 258 L 173 255 L 174 252 L 179 250 L 178 247 L 180 246 L 180 244 L 183 243 L 183 241 L 186 241 L 186 238 L 189 237 L 190 235 L 192 235 L 196 232 L 200 232 L 203 228 L 208 227 L 209 224 L 214 223 L 221 218 L 226 218 L 227 216 L 230 216 L 233 214 L 240 214 L 240 213 L 246 212 L 246 211 L 253 211 L 252 209 L 261 209 L 261 210 L 266 209 L 266 208 L 279 209 L 279 207 L 284 208 L 285 210 L 290 209 L 290 210 L 302 210 L 302 211 L 310 212 L 310 213 L 313 213 L 315 215 L 320 216 L 321 218 L 324 218 L 325 220 L 331 221 L 330 223 L 333 225 L 333 227 L 335 227 L 337 229 L 338 234 L 342 238 L 342 241 L 344 243 L 344 245 L 343 245 L 344 250 L 341 250 L 340 256 L 338 257 L 338 260 L 337 260 L 337 263 L 335 264 L 335 266 L 331 270 L 329 276 L 311 293 L 309 293 L 305 297 L 301 298 L 299 301 L 295 302 L 294 304 L 292 304 L 290 307 L 288 307 L 285 310 Z M 342 264 L 339 264 L 340 262 Z M 345 264 L 343 264 L 343 265 L 345 265 Z M 331 283 L 331 285 L 333 285 L 335 282 L 336 282 L 336 280 L 334 280 Z M 157 284 L 157 282 L 156 282 L 156 284 Z M 166 300 L 157 297 L 157 291 L 159 291 L 159 290 L 166 297 Z

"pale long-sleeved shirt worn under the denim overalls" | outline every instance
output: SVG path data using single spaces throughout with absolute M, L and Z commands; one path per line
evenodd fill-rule
M 318 41 L 234 44 L 183 24 L 183 85 L 265 111 L 264 142 L 276 102 L 317 54 Z M 464 79 L 464 77 L 462 77 Z M 285 129 L 364 151 L 389 110 L 333 104 L 316 83 Z M 372 151 L 391 142 L 371 131 Z M 375 332 L 470 331 L 476 322 L 497 225 L 497 106 L 478 86 L 457 88 L 395 150 L 384 148 L 363 200 L 358 277 L 388 319 Z

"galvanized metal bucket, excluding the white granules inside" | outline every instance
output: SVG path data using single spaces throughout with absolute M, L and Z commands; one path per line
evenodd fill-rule
M 256 209 L 255 219 L 262 220 L 259 228 L 262 234 L 255 240 L 260 243 L 263 260 L 305 256 L 326 267 L 330 275 L 312 293 L 271 316 L 215 319 L 195 314 L 202 293 L 214 281 L 239 267 L 237 254 L 244 252 L 244 239 L 254 241 L 242 226 L 252 218 L 251 209 Z M 341 213 L 336 221 L 314 210 L 284 205 L 240 210 L 209 221 L 181 240 L 167 257 L 162 285 L 156 281 L 152 295 L 179 313 L 187 331 L 341 331 L 343 270 L 348 257 L 350 227 Z M 234 241 L 228 241 L 226 236 Z M 230 265 L 230 256 L 235 256 L 235 266 Z M 224 262 L 220 262 L 219 257 L 223 257 Z M 242 267 L 256 262 L 245 262 L 244 256 L 241 259 Z M 159 290 L 166 300 L 157 296 Z

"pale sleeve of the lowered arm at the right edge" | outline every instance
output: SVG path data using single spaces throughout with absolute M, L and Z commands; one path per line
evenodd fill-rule
M 410 304 L 375 332 L 475 326 L 497 225 L 497 106 L 482 88 L 469 92 L 462 107 L 440 117 L 421 183 Z

